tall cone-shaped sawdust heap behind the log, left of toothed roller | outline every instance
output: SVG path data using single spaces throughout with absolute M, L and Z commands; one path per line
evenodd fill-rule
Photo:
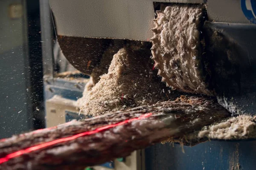
M 150 59 L 150 50 L 121 48 L 113 56 L 108 74 L 84 96 L 81 111 L 98 116 L 169 99 L 169 88 L 160 81 Z

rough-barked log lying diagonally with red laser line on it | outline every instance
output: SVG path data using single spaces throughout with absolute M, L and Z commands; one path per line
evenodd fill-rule
M 181 96 L 175 101 L 140 106 L 13 136 L 0 142 L 0 160 L 19 150 L 137 118 L 146 113 L 151 113 L 151 116 L 21 154 L 1 163 L 0 169 L 83 169 L 116 157 L 128 156 L 134 150 L 169 137 L 182 136 L 230 116 L 214 99 Z

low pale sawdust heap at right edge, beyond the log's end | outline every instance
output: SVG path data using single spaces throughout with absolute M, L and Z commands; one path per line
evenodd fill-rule
M 256 116 L 239 115 L 225 122 L 205 127 L 198 138 L 209 139 L 252 139 L 256 138 Z

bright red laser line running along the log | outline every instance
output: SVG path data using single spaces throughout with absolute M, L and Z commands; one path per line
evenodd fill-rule
M 9 161 L 9 159 L 15 158 L 17 156 L 21 156 L 21 155 L 26 154 L 26 153 L 30 153 L 30 152 L 35 151 L 35 150 L 42 149 L 44 147 L 48 147 L 48 146 L 52 146 L 54 144 L 58 144 L 58 143 L 61 143 L 61 142 L 66 142 L 66 141 L 70 141 L 70 140 L 73 140 L 73 139 L 77 139 L 77 138 L 79 138 L 81 136 L 87 136 L 87 135 L 99 133 L 99 132 L 101 132 L 103 130 L 107 130 L 107 129 L 110 129 L 112 127 L 116 127 L 116 126 L 119 126 L 119 125 L 124 125 L 124 124 L 132 122 L 134 120 L 144 119 L 144 118 L 147 118 L 147 117 L 149 117 L 151 115 L 152 115 L 152 113 L 146 113 L 146 114 L 141 115 L 140 117 L 137 117 L 137 118 L 128 119 L 128 120 L 125 120 L 123 122 L 119 122 L 119 123 L 116 123 L 116 124 L 106 125 L 106 126 L 103 126 L 103 127 L 99 127 L 99 128 L 96 128 L 95 130 L 79 133 L 79 134 L 76 134 L 74 136 L 70 136 L 70 137 L 66 137 L 66 138 L 61 138 L 61 139 L 56 139 L 56 140 L 53 140 L 51 142 L 46 142 L 46 143 L 43 143 L 43 144 L 35 145 L 33 147 L 29 147 L 29 148 L 24 149 L 24 150 L 19 150 L 17 152 L 10 153 L 10 154 L 6 155 L 3 158 L 0 158 L 0 164 L 4 163 L 6 161 Z

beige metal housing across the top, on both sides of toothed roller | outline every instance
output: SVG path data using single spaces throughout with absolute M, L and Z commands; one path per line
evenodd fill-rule
M 57 34 L 149 41 L 153 37 L 154 5 L 158 3 L 205 3 L 209 21 L 250 23 L 241 0 L 50 0 Z M 222 8 L 220 8 L 222 6 Z M 235 12 L 233 12 L 235 11 Z

